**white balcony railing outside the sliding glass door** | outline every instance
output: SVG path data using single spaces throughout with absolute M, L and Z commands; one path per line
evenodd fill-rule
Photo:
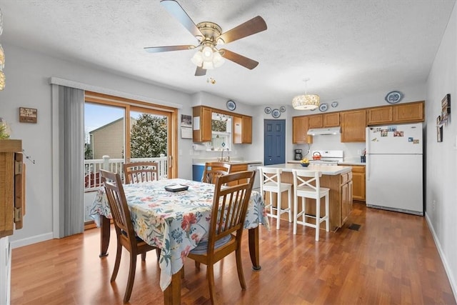
M 139 161 L 155 161 L 159 164 L 159 180 L 168 178 L 168 157 L 164 154 L 156 158 L 134 158 L 131 163 Z M 103 159 L 84 160 L 84 191 L 96 191 L 101 186 L 100 169 L 113 171 L 121 175 L 124 181 L 124 159 L 110 159 L 109 156 L 103 156 Z

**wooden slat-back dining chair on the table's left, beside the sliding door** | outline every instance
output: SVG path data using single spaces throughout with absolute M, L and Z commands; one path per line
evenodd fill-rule
M 129 206 L 127 206 L 126 195 L 122 187 L 121 176 L 111 171 L 100 170 L 101 181 L 105 187 L 106 198 L 108 199 L 111 215 L 113 216 L 114 228 L 116 229 L 117 250 L 114 270 L 111 281 L 116 279 L 121 263 L 122 247 L 130 253 L 129 279 L 127 279 L 126 293 L 124 294 L 124 304 L 127 303 L 134 287 L 136 256 L 141 254 L 141 259 L 146 260 L 146 252 L 152 249 L 159 250 L 154 246 L 146 244 L 145 241 L 136 236 L 134 226 L 131 222 Z M 159 257 L 159 251 L 157 251 Z

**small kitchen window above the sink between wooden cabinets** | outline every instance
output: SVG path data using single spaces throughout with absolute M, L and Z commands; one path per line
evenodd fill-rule
M 232 117 L 213 112 L 211 118 L 211 142 L 206 144 L 206 151 L 231 151 Z

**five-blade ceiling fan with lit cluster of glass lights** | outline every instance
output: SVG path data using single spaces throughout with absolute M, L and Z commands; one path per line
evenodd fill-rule
M 191 61 L 196 64 L 197 69 L 195 76 L 204 76 L 206 70 L 214 69 L 224 63 L 224 59 L 229 59 L 236 64 L 244 66 L 247 69 L 254 69 L 258 65 L 258 61 L 248 59 L 245 56 L 229 51 L 227 49 L 217 49 L 218 44 L 228 44 L 229 42 L 242 39 L 246 36 L 256 34 L 266 30 L 266 23 L 261 16 L 256 16 L 243 24 L 240 24 L 233 29 L 222 33 L 221 26 L 214 22 L 204 21 L 199 24 L 194 24 L 194 21 L 184 11 L 178 2 L 174 0 L 160 1 L 162 6 L 169 13 L 178 19 L 179 22 L 199 41 L 199 44 L 181 45 L 181 46 L 150 46 L 144 49 L 149 53 L 158 53 L 166 51 L 179 51 L 199 49 L 194 54 Z

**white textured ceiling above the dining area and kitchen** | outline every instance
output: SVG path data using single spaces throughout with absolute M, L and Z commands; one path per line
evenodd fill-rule
M 223 32 L 262 16 L 266 31 L 224 46 L 260 64 L 248 70 L 226 61 L 194 76 L 192 50 L 147 53 L 145 46 L 196 44 L 159 0 L 1 0 L 0 42 L 246 104 L 284 104 L 305 87 L 321 101 L 333 101 L 426 81 L 455 0 L 179 4 L 195 24 L 213 21 Z

